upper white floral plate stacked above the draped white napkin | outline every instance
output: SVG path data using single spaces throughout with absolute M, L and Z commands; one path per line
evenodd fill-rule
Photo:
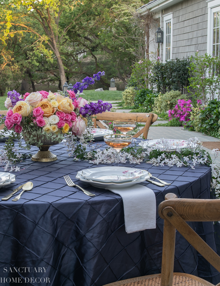
M 97 167 L 82 171 L 82 177 L 100 183 L 126 183 L 147 174 L 145 170 L 126 167 Z

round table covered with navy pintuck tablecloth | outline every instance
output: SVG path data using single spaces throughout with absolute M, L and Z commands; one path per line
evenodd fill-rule
M 100 148 L 106 147 L 104 141 L 96 143 Z M 109 164 L 74 161 L 63 143 L 50 150 L 58 156 L 57 161 L 27 159 L 19 164 L 20 172 L 13 172 L 16 182 L 0 189 L 1 199 L 25 182 L 34 184 L 18 201 L 0 201 L 1 285 L 14 285 L 10 281 L 21 278 L 23 284 L 18 285 L 50 282 L 52 286 L 102 286 L 160 273 L 163 220 L 158 213 L 156 229 L 126 233 L 122 198 L 75 178 L 79 170 Z M 36 147 L 24 150 L 32 154 L 36 151 Z M 175 193 L 178 198 L 214 198 L 210 192 L 211 168 L 206 165 L 196 166 L 195 170 L 129 162 L 120 166 L 149 170 L 153 176 L 171 183 L 164 187 L 141 183 L 154 191 L 157 207 L 167 193 Z M 68 187 L 64 175 L 96 196 L 89 197 L 76 187 Z M 216 235 L 218 223 L 191 222 L 190 226 L 216 251 L 216 244 L 220 244 Z M 178 232 L 174 272 L 193 274 L 213 284 L 220 282 L 217 270 Z

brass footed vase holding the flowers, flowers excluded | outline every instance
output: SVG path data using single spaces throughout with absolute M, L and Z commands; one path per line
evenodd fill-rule
M 29 135 L 24 134 L 24 132 L 23 132 L 23 137 L 24 137 L 24 140 L 26 142 L 26 138 L 28 138 Z M 38 161 L 38 162 L 56 161 L 57 156 L 52 154 L 51 151 L 49 151 L 49 148 L 52 145 L 59 144 L 59 141 L 56 140 L 56 138 L 55 138 L 55 140 L 52 141 L 52 138 L 47 139 L 47 138 L 45 138 L 45 136 L 42 136 L 42 135 L 37 135 L 36 140 L 37 141 L 41 140 L 43 145 L 41 145 L 41 147 L 39 147 L 39 151 L 31 157 L 31 160 L 32 161 Z M 36 146 L 36 144 L 31 144 L 31 145 Z

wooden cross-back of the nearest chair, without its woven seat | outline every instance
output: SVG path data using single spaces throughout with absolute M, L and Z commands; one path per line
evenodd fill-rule
M 219 221 L 220 199 L 177 199 L 175 194 L 169 193 L 159 205 L 158 212 L 164 219 L 161 286 L 173 285 L 176 230 L 220 272 L 220 257 L 186 223 Z

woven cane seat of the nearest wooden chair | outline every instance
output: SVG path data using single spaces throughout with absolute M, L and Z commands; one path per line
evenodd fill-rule
M 184 273 L 181 274 L 182 273 L 174 273 L 173 286 L 214 286 L 199 277 Z M 161 274 L 156 274 L 117 281 L 104 286 L 160 286 L 160 278 Z

